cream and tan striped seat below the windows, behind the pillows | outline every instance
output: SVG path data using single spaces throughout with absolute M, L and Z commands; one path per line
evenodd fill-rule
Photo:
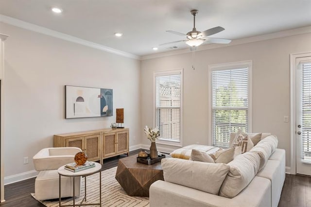
M 196 150 L 199 150 L 201 152 L 206 152 L 206 153 L 214 153 L 217 150 L 219 150 L 218 147 L 212 147 L 212 146 L 207 146 L 207 145 L 199 145 L 199 144 L 191 144 L 191 145 L 179 148 L 177 150 L 174 150 L 170 155 L 174 158 L 189 159 L 192 149 L 196 149 Z

